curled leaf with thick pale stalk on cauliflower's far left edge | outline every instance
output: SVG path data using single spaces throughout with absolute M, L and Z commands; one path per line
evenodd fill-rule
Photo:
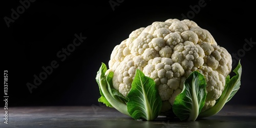
M 106 65 L 102 62 L 101 67 L 99 68 L 99 71 L 96 75 L 96 82 L 99 85 L 99 91 L 101 97 L 98 99 L 99 102 L 102 102 L 106 104 L 106 106 L 109 106 L 111 108 L 115 108 L 119 112 L 130 116 L 127 112 L 127 107 L 125 102 L 121 102 L 120 100 L 116 99 L 117 95 L 114 95 L 112 92 L 111 87 L 113 87 L 112 84 L 112 74 L 105 75 L 107 68 Z

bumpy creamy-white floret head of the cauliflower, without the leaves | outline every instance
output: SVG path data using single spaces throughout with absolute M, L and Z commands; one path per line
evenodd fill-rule
M 188 75 L 199 71 L 207 83 L 205 111 L 221 96 L 231 64 L 231 55 L 209 31 L 174 18 L 134 30 L 113 49 L 106 74 L 114 72 L 113 86 L 126 97 L 136 69 L 141 70 L 156 82 L 164 112 L 172 109 Z

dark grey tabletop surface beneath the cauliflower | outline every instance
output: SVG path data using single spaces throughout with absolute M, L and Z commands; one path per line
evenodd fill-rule
M 225 105 L 216 115 L 196 121 L 157 118 L 134 120 L 104 105 L 91 106 L 20 106 L 0 110 L 0 127 L 256 127 L 256 106 Z M 4 117 L 5 118 L 5 117 Z

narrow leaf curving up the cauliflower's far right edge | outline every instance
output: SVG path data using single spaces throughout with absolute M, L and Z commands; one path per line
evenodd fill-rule
M 229 75 L 226 77 L 224 91 L 222 92 L 220 98 L 216 101 L 215 105 L 212 106 L 212 108 L 200 113 L 200 118 L 217 114 L 223 108 L 225 103 L 228 102 L 234 96 L 234 94 L 238 92 L 241 86 L 242 75 L 242 65 L 240 63 L 240 60 L 238 62 L 238 66 L 233 70 L 233 72 L 236 73 L 236 75 L 233 76 L 231 79 Z

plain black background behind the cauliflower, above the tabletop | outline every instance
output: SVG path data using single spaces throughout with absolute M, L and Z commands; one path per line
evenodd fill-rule
M 101 62 L 108 64 L 113 48 L 140 27 L 168 18 L 182 19 L 202 1 L 35 1 L 7 27 L 19 1 L 1 4 L 3 70 L 8 70 L 8 105 L 99 105 L 95 77 Z M 255 5 L 252 1 L 205 0 L 195 15 L 189 15 L 214 36 L 230 54 L 243 51 L 245 39 L 256 43 Z M 84 37 L 81 45 L 61 61 L 56 54 L 73 43 L 74 34 Z M 256 104 L 255 43 L 239 56 L 243 66 L 242 84 L 228 104 Z M 234 57 L 233 57 L 234 58 Z M 58 67 L 29 92 L 42 66 L 56 60 Z M 237 59 L 235 59 L 237 60 Z M 234 61 L 237 65 L 237 61 Z M 2 86 L 3 87 L 3 86 Z M 4 88 L 2 88 L 2 97 Z M 3 100 L 2 100 L 3 101 Z M 4 105 L 4 103 L 3 103 Z

